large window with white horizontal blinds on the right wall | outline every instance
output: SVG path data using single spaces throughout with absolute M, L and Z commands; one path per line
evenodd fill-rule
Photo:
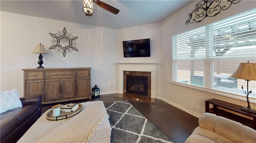
M 172 54 L 173 81 L 245 96 L 247 82 L 230 75 L 240 63 L 256 63 L 256 11 L 173 36 Z M 248 87 L 256 98 L 256 81 Z

